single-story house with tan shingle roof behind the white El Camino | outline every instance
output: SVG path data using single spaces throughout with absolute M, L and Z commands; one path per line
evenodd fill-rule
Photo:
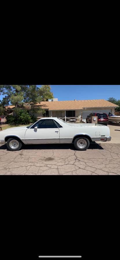
M 59 117 L 59 118 L 80 118 L 86 122 L 86 116 L 90 113 L 95 112 L 105 112 L 109 114 L 111 112 L 114 114 L 115 107 L 119 107 L 105 99 L 95 99 L 95 100 L 72 100 L 72 101 L 58 101 L 58 99 L 48 100 L 45 102 L 36 103 L 35 106 L 45 109 L 46 117 Z M 14 112 L 14 107 L 10 111 Z M 32 114 L 29 111 L 29 114 Z M 42 117 L 42 114 L 34 114 L 37 118 Z M 78 119 L 79 120 L 79 119 Z

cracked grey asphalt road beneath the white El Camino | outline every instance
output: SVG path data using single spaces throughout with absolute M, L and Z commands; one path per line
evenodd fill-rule
M 120 175 L 120 144 L 90 144 L 86 151 L 72 144 L 24 145 L 14 152 L 0 144 L 0 174 Z

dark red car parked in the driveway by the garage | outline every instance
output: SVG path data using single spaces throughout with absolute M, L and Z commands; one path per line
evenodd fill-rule
M 89 116 L 87 116 L 86 123 L 91 123 L 91 116 L 97 116 L 98 124 L 108 125 L 109 120 L 106 113 L 91 113 Z

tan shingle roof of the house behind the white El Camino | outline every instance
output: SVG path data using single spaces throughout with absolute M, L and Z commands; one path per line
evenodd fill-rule
M 105 99 L 95 100 L 77 100 L 77 101 L 46 101 L 37 103 L 42 109 L 48 110 L 76 110 L 83 109 L 84 107 L 119 107 Z

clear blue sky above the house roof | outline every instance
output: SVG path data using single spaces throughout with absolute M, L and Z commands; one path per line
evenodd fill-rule
M 120 99 L 120 85 L 51 85 L 51 91 L 54 97 L 58 98 L 58 101 L 74 99 L 107 100 L 109 97 Z M 2 97 L 3 96 L 0 96 L 0 99 L 2 99 Z

